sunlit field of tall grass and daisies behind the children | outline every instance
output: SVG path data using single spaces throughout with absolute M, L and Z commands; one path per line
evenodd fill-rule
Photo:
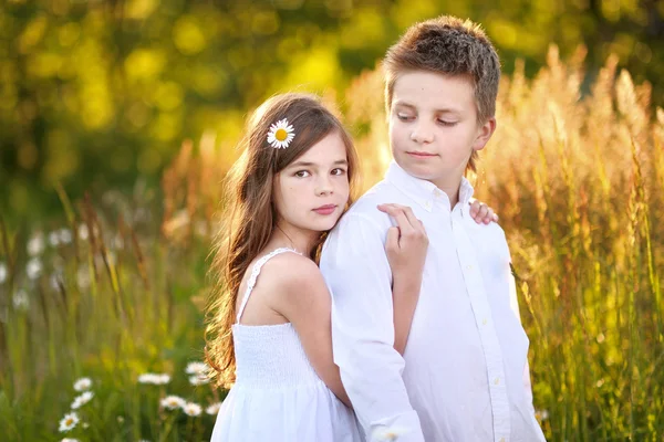
M 664 110 L 613 57 L 589 86 L 584 56 L 552 48 L 535 80 L 522 65 L 502 80 L 476 196 L 510 243 L 548 440 L 662 441 Z M 390 161 L 380 73 L 325 99 L 366 189 Z M 237 155 L 207 133 L 183 143 L 159 191 L 70 201 L 60 188 L 60 222 L 0 218 L 0 439 L 209 439 L 226 392 L 191 362 Z

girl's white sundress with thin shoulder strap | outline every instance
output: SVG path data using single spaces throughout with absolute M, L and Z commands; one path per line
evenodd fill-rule
M 353 411 L 318 377 L 293 326 L 239 324 L 262 265 L 256 262 L 232 326 L 236 383 L 221 404 L 211 442 L 357 442 Z M 297 253 L 297 252 L 295 252 Z

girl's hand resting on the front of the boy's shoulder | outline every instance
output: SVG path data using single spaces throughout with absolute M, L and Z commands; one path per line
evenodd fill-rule
M 428 236 L 424 224 L 409 207 L 380 204 L 378 210 L 394 218 L 397 225 L 387 230 L 385 252 L 392 269 L 394 284 L 417 287 L 422 284 L 422 273 L 428 248 Z M 394 285 L 393 284 L 393 285 Z

